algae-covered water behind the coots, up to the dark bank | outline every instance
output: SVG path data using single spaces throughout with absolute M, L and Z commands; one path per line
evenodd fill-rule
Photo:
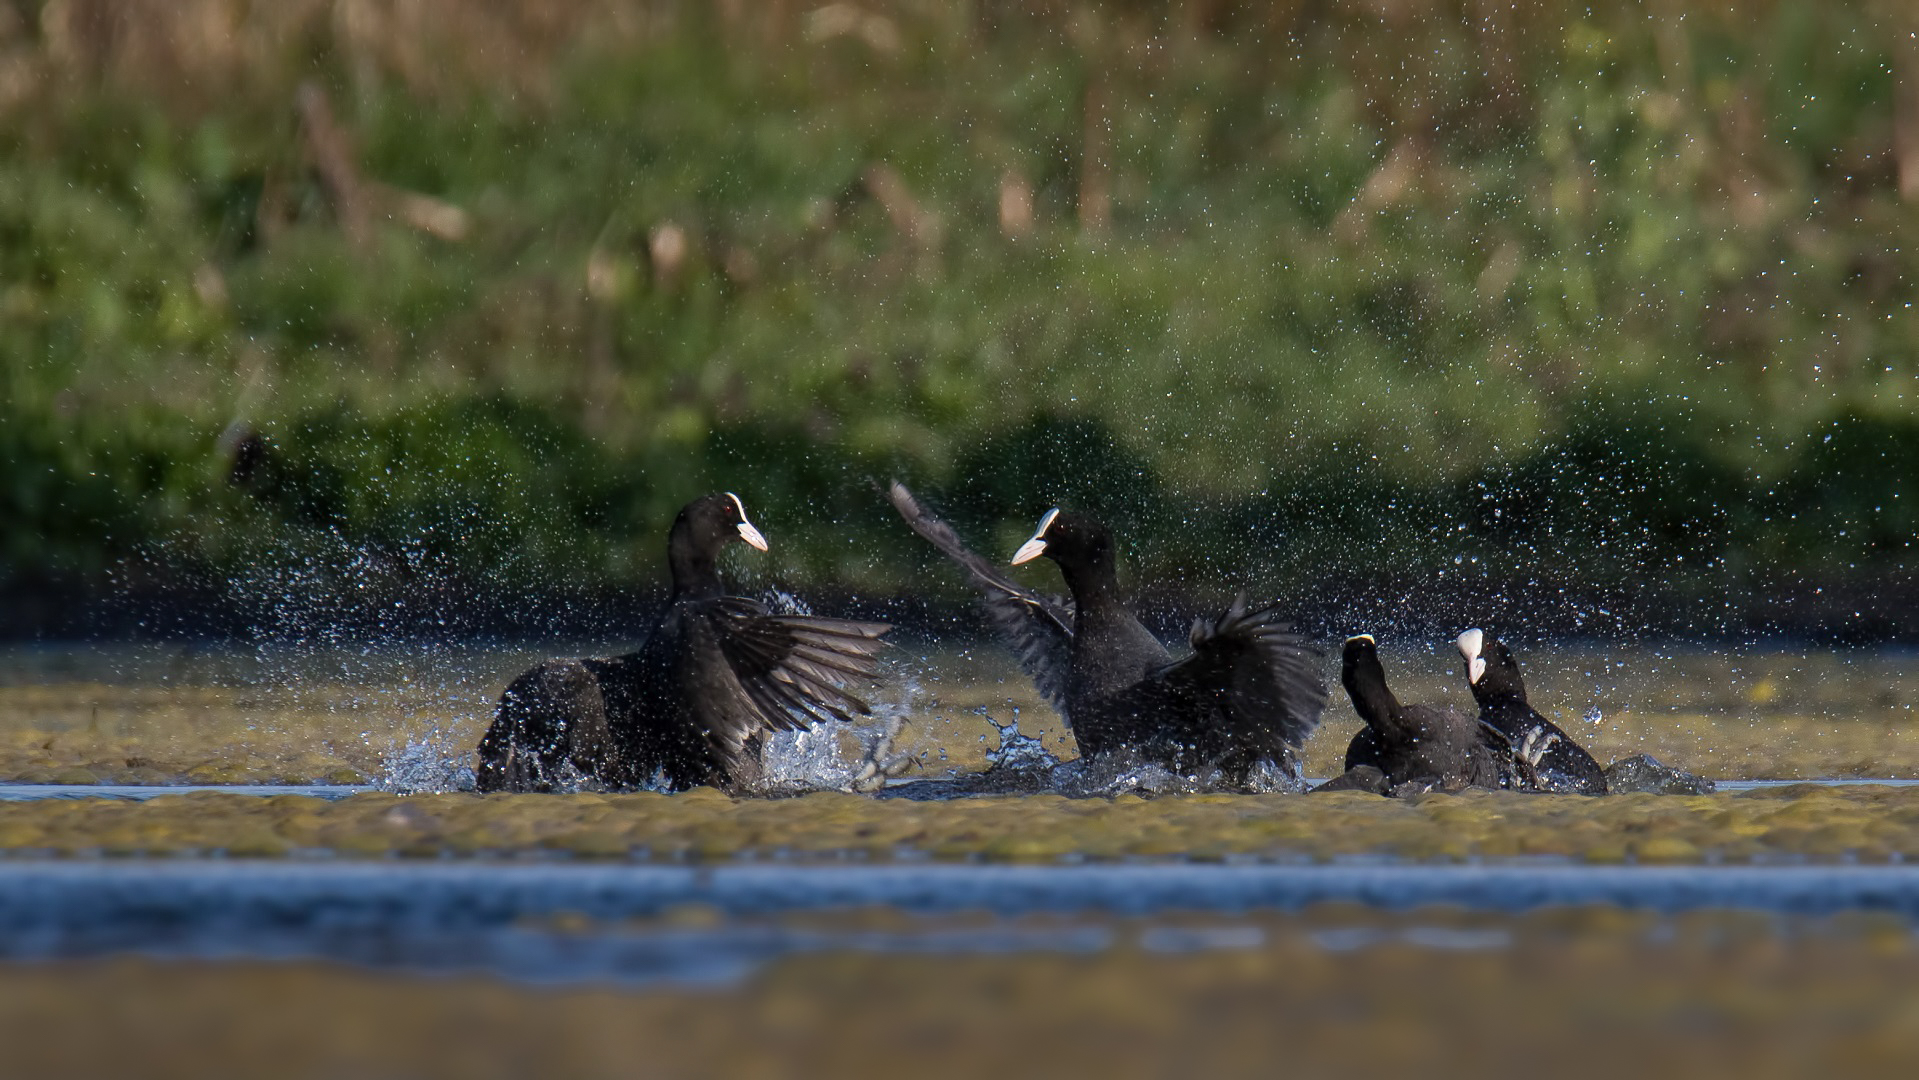
M 395 769 L 451 773 L 470 763 L 514 673 L 543 656 L 620 646 L 6 648 L 0 783 L 351 785 Z M 1470 704 L 1447 643 L 1386 639 L 1382 650 L 1403 700 Z M 1714 779 L 1919 777 L 1911 650 L 1581 643 L 1522 658 L 1533 702 L 1600 762 L 1652 754 Z M 1359 729 L 1332 658 L 1326 679 L 1334 702 L 1305 750 L 1305 773 L 1320 777 L 1339 771 Z M 869 696 L 904 719 L 894 750 L 917 758 L 906 777 L 984 767 L 998 727 L 1015 721 L 1073 754 L 1054 710 L 990 645 L 908 641 Z

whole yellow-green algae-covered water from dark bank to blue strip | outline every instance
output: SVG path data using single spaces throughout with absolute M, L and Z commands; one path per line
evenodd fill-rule
M 1447 643 L 1386 643 L 1407 700 L 1468 702 Z M 1587 863 L 1904 861 L 1919 788 L 1783 787 L 1712 796 L 1551 798 L 848 794 L 871 740 L 789 742 L 800 798 L 461 794 L 499 687 L 564 645 L 386 648 L 73 646 L 0 656 L 0 783 L 367 785 L 340 800 L 190 794 L 146 804 L 0 806 L 0 852 L 104 856 L 524 856 L 729 859 L 1478 859 Z M 1911 652 L 1533 646 L 1533 700 L 1600 762 L 1629 754 L 1721 781 L 1919 775 Z M 1336 683 L 1332 660 L 1326 675 Z M 990 646 L 894 650 L 871 687 L 898 725 L 894 783 L 984 769 L 1017 723 L 1025 752 L 1071 737 Z M 1307 775 L 1334 775 L 1359 721 L 1334 696 Z M 894 788 L 898 790 L 898 788 Z

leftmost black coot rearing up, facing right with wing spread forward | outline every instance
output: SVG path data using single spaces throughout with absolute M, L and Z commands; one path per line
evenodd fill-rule
M 766 551 L 733 493 L 689 503 L 666 543 L 674 595 L 637 652 L 547 660 L 499 698 L 480 740 L 480 790 L 716 785 L 752 790 L 771 731 L 848 719 L 887 623 L 775 614 L 727 597 L 729 543 Z

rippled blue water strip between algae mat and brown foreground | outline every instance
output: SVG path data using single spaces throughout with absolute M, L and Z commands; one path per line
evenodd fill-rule
M 1109 917 L 1144 917 L 1155 951 L 1251 948 L 1253 915 L 1326 905 L 1520 915 L 1552 907 L 1741 909 L 1919 919 L 1919 867 L 1078 865 L 537 867 L 301 863 L 27 863 L 0 890 L 0 959 L 309 957 L 520 980 L 723 982 L 791 953 L 1090 953 Z M 879 925 L 796 915 L 887 909 Z M 963 925 L 950 917 L 973 913 Z M 1203 930 L 1163 921 L 1228 917 Z M 1046 923 L 1031 917 L 1044 915 Z M 948 921 L 929 919 L 948 917 Z M 1902 930 L 1909 934 L 1907 930 Z M 1386 944 L 1366 927 L 1328 950 Z M 1506 934 L 1414 934 L 1497 948 Z

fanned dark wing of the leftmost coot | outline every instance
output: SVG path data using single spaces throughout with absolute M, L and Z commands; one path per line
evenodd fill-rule
M 879 673 L 887 623 L 775 616 L 758 600 L 702 604 L 697 637 L 725 660 L 725 693 L 712 694 L 710 729 L 745 740 L 754 729 L 798 731 L 823 719 L 867 714 L 846 683 Z

